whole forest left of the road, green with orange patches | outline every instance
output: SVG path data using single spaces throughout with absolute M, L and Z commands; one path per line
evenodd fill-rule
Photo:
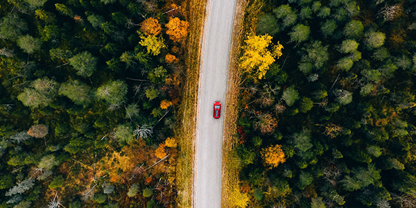
M 0 5 L 0 207 L 175 207 L 180 1 Z

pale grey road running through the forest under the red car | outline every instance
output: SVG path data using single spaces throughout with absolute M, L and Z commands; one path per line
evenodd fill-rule
M 207 4 L 198 89 L 193 196 L 196 208 L 219 208 L 221 205 L 223 115 L 235 8 L 236 0 L 210 0 Z M 213 118 L 214 101 L 221 102 L 220 119 Z

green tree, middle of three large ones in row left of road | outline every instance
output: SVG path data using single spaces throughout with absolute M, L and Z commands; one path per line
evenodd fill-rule
M 68 80 L 62 83 L 59 94 L 67 96 L 76 105 L 88 105 L 92 99 L 91 87 L 79 80 Z

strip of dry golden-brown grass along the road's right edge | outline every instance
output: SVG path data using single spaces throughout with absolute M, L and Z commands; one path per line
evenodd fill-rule
M 241 70 L 239 70 L 239 58 L 241 57 L 241 45 L 247 34 L 254 33 L 257 24 L 257 17 L 263 0 L 237 1 L 236 15 L 234 18 L 234 28 L 232 46 L 228 71 L 227 90 L 227 111 L 225 112 L 224 135 L 223 135 L 223 177 L 221 189 L 221 207 L 235 207 L 233 205 L 233 190 L 240 190 L 239 155 L 236 152 L 236 145 L 239 142 L 237 133 L 237 119 L 239 118 L 239 104 Z

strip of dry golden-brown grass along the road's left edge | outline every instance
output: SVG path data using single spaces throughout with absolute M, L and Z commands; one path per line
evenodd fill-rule
M 200 69 L 200 42 L 205 21 L 206 1 L 185 0 L 181 12 L 189 22 L 189 35 L 184 46 L 184 83 L 175 135 L 179 143 L 176 167 L 177 207 L 189 208 L 193 203 L 193 155 L 195 153 L 196 105 Z

